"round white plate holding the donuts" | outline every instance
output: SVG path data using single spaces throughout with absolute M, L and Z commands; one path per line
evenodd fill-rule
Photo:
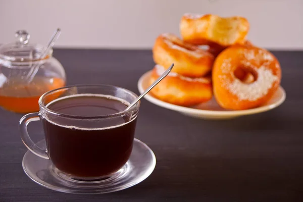
M 151 71 L 148 71 L 140 77 L 138 81 L 138 90 L 140 93 L 142 93 L 148 87 L 148 79 L 150 77 L 150 74 Z M 284 102 L 286 98 L 286 93 L 285 90 L 280 86 L 277 92 L 273 95 L 273 97 L 263 106 L 254 109 L 239 111 L 231 111 L 221 108 L 217 104 L 216 99 L 214 97 L 207 103 L 199 104 L 190 108 L 163 102 L 162 100 L 157 99 L 150 93 L 147 93 L 144 98 L 147 99 L 150 103 L 153 103 L 166 109 L 180 112 L 190 117 L 200 119 L 231 119 L 244 115 L 257 114 L 272 110 Z

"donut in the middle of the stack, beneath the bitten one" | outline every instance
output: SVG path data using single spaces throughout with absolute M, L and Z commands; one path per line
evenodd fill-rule
M 173 34 L 161 34 L 153 47 L 156 64 L 168 68 L 175 64 L 175 73 L 189 77 L 201 77 L 209 73 L 214 56 L 197 46 L 182 41 Z

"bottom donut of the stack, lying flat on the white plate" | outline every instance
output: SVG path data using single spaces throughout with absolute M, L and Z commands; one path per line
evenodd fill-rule
M 164 71 L 164 67 L 156 65 L 149 83 L 157 80 Z M 213 94 L 210 77 L 190 78 L 174 72 L 169 73 L 150 92 L 164 102 L 185 107 L 207 102 Z

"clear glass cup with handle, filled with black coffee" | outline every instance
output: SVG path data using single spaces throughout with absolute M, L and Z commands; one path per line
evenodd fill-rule
M 70 86 L 46 92 L 39 99 L 39 113 L 27 114 L 20 120 L 21 138 L 32 153 L 51 159 L 56 168 L 68 175 L 107 176 L 122 168 L 130 157 L 139 103 L 126 112 L 119 109 L 117 113 L 100 116 L 69 115 L 52 107 L 61 102 L 69 108 L 80 98 L 84 102 L 84 96 L 85 100 L 111 97 L 109 100 L 115 100 L 116 104 L 107 101 L 109 108 L 116 108 L 118 100 L 127 103 L 126 108 L 137 98 L 129 90 L 110 85 Z M 43 124 L 47 150 L 35 145 L 27 132 L 27 125 L 38 120 Z

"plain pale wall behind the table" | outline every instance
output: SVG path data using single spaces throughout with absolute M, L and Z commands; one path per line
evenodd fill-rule
M 46 43 L 57 27 L 56 46 L 150 48 L 158 34 L 178 34 L 184 13 L 240 15 L 248 39 L 271 49 L 303 49 L 303 0 L 0 0 L 0 43 L 26 29 Z

